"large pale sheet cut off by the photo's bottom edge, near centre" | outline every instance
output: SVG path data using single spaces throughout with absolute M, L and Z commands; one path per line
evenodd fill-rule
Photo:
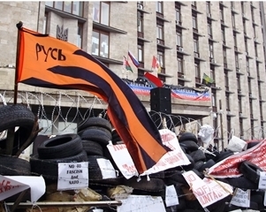
M 166 212 L 162 197 L 147 195 L 129 195 L 122 201 L 122 205 L 118 206 L 118 212 Z

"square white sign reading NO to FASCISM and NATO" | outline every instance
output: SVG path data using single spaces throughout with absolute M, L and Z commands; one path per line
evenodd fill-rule
M 88 163 L 58 163 L 57 190 L 79 189 L 88 186 Z

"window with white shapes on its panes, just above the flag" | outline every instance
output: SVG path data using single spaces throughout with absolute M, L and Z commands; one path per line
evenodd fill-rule
M 92 55 L 109 57 L 109 34 L 94 29 L 92 36 Z

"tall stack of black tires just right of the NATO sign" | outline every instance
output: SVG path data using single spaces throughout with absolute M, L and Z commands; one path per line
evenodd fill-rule
M 78 125 L 78 134 L 82 140 L 83 149 L 87 152 L 88 178 L 90 185 L 110 186 L 118 185 L 120 178 L 103 179 L 102 170 L 97 160 L 108 158 L 104 152 L 108 151 L 111 136 L 111 125 L 103 117 L 88 117 Z

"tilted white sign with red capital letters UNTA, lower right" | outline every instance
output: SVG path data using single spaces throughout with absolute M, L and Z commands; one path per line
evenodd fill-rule
M 202 208 L 206 208 L 232 193 L 232 186 L 220 181 L 217 183 L 217 181 L 210 178 L 201 179 L 192 170 L 183 173 L 183 176 L 188 185 L 191 186 L 192 191 L 197 200 L 201 203 Z

